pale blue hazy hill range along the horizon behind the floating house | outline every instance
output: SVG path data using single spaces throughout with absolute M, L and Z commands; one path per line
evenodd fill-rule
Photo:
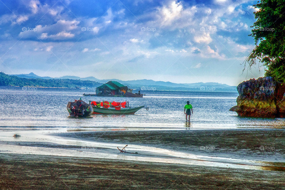
M 42 78 L 42 79 L 52 79 L 51 77 L 40 77 L 34 73 L 15 75 L 24 78 Z M 236 92 L 236 86 L 230 86 L 227 84 L 220 83 L 172 83 L 164 81 L 154 81 L 154 80 L 118 80 L 118 79 L 98 79 L 93 76 L 91 77 L 77 77 L 77 76 L 63 76 L 54 79 L 72 79 L 72 80 L 91 80 L 98 83 L 106 83 L 110 80 L 118 81 L 129 88 L 133 89 L 156 89 L 156 90 L 175 90 L 175 91 L 225 91 L 225 92 Z

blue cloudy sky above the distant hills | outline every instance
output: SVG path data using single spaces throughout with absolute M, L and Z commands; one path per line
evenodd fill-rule
M 256 3 L 0 0 L 0 71 L 238 85 Z

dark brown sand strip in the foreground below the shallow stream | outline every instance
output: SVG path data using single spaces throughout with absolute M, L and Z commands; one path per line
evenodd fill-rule
M 0 154 L 0 189 L 285 189 L 285 173 Z

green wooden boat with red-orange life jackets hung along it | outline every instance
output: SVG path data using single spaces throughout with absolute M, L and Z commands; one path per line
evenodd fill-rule
M 118 104 L 119 103 L 119 104 Z M 95 102 L 92 101 L 93 114 L 131 115 L 145 106 L 129 107 L 129 102 Z M 127 103 L 127 104 L 126 104 Z M 148 107 L 145 107 L 148 110 Z

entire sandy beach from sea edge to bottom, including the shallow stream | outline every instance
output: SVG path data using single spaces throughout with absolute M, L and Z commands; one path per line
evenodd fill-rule
M 84 130 L 2 130 L 1 189 L 285 186 L 284 129 Z

